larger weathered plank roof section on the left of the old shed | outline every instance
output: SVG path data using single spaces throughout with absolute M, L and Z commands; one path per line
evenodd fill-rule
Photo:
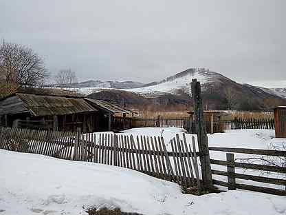
M 97 111 L 85 99 L 25 93 L 17 93 L 16 95 L 31 110 L 34 116 L 67 115 Z

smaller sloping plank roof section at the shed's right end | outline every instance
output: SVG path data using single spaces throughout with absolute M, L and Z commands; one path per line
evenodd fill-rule
M 85 100 L 89 101 L 93 105 L 96 106 L 96 108 L 104 110 L 106 112 L 110 112 L 112 114 L 129 114 L 129 110 L 125 110 L 122 107 L 119 107 L 117 105 L 113 105 L 112 103 L 109 103 L 107 101 L 98 100 L 98 99 L 89 99 L 85 98 Z

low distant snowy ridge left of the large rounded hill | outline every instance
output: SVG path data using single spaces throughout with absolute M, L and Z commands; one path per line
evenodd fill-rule
M 52 88 L 117 88 L 117 89 L 130 89 L 130 88 L 142 88 L 145 83 L 140 83 L 137 81 L 82 81 L 80 83 L 71 84 L 50 84 L 47 87 Z

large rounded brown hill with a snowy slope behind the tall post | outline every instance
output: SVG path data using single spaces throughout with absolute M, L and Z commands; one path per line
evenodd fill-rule
M 162 81 L 148 83 L 141 88 L 125 90 L 96 90 L 94 99 L 108 98 L 116 103 L 139 109 L 170 110 L 192 105 L 190 83 L 201 82 L 203 103 L 210 110 L 270 110 L 276 105 L 285 105 L 286 99 L 277 92 L 241 84 L 217 72 L 203 68 L 191 68 L 169 76 Z M 136 98 L 136 99 L 134 99 Z

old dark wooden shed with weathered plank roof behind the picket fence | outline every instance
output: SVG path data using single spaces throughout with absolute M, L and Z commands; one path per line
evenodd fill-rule
M 0 99 L 0 123 L 5 127 L 83 132 L 111 130 L 111 116 L 127 110 L 107 101 L 76 95 L 17 92 Z

